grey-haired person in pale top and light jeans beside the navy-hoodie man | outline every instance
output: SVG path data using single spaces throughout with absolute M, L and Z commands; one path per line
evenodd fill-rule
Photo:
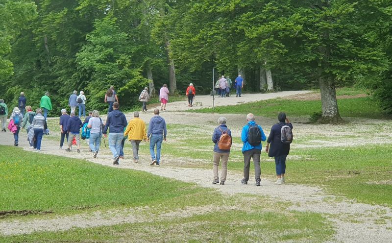
M 93 158 L 97 158 L 99 146 L 101 144 L 102 125 L 103 121 L 99 117 L 99 112 L 97 110 L 94 110 L 87 125 L 87 127 L 90 128 L 89 146 L 90 150 L 93 152 Z

